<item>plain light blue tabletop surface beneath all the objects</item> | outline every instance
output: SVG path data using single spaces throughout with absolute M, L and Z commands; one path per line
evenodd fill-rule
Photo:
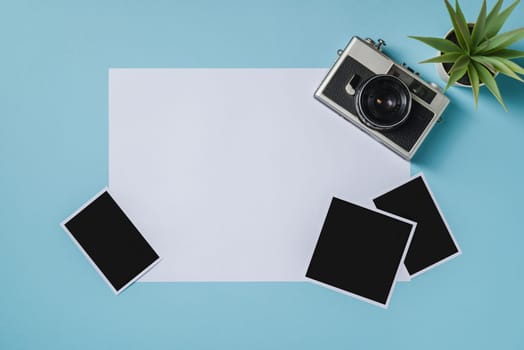
M 474 20 L 480 1 L 463 2 Z M 522 18 L 521 4 L 505 28 Z M 463 255 L 397 284 L 388 310 L 308 283 L 115 297 L 58 225 L 107 185 L 110 67 L 328 67 L 361 35 L 438 81 L 407 35 L 449 27 L 436 0 L 3 1 L 0 349 L 523 349 L 524 85 L 503 76 L 508 113 L 451 89 L 412 162 Z

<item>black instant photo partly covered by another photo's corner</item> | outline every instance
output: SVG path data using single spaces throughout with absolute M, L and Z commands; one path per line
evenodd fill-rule
M 417 223 L 404 260 L 411 278 L 461 254 L 422 174 L 376 197 L 373 202 L 378 209 Z

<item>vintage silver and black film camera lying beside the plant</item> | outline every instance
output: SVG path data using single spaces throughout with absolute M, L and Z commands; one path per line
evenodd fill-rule
M 382 51 L 385 42 L 353 37 L 315 98 L 404 159 L 411 159 L 449 99 L 433 83 Z

